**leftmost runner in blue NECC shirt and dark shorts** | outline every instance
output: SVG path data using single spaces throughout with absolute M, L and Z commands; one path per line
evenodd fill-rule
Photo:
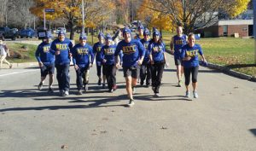
M 51 38 L 51 33 L 47 32 L 46 36 L 44 37 L 44 42 L 38 45 L 38 49 L 35 53 L 41 71 L 41 81 L 38 84 L 38 90 L 42 90 L 44 79 L 49 74 L 49 93 L 52 93 L 54 91 L 52 89 L 52 84 L 54 81 L 55 73 L 55 55 L 49 52 Z

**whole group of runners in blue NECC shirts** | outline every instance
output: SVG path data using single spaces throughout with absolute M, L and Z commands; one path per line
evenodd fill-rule
M 145 82 L 147 87 L 152 86 L 154 96 L 160 96 L 161 79 L 167 62 L 166 44 L 163 43 L 160 32 L 154 28 L 153 38 L 150 38 L 149 30 L 140 25 L 134 38 L 131 38 L 131 30 L 128 27 L 122 30 L 122 35 L 122 40 L 116 40 L 109 33 L 104 35 L 100 32 L 98 34 L 99 41 L 91 47 L 87 44 L 87 37 L 84 34 L 80 35 L 79 44 L 73 46 L 71 41 L 65 38 L 64 32 L 59 32 L 58 38 L 53 42 L 51 42 L 52 35 L 48 32 L 44 42 L 38 45 L 35 54 L 41 69 L 41 81 L 38 84 L 38 89 L 42 89 L 44 80 L 49 74 L 49 92 L 53 92 L 53 75 L 56 68 L 60 94 L 61 96 L 69 95 L 69 67 L 72 58 L 77 75 L 78 94 L 82 95 L 83 91 L 88 90 L 90 67 L 93 66 L 96 59 L 97 84 L 105 88 L 107 80 L 109 92 L 117 89 L 116 71 L 120 67 L 123 68 L 125 88 L 130 100 L 129 107 L 135 103 L 133 94 L 138 79 L 140 79 L 141 85 Z M 202 54 L 201 46 L 195 44 L 194 34 L 191 33 L 187 37 L 183 34 L 182 26 L 178 26 L 177 35 L 172 38 L 171 53 L 174 55 L 177 66 L 177 86 L 182 85 L 184 73 L 185 96 L 190 97 L 189 83 L 192 73 L 193 94 L 197 98 L 198 55 L 202 56 L 204 62 L 207 61 Z

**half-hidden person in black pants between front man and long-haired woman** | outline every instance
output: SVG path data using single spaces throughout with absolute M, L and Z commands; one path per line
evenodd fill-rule
M 150 33 L 146 28 L 143 32 L 144 38 L 141 40 L 146 52 L 143 60 L 143 64 L 140 70 L 140 78 L 141 78 L 141 85 L 144 84 L 144 80 L 146 79 L 146 86 L 148 87 L 151 84 L 151 64 L 149 61 L 149 50 L 148 45 L 150 42 Z

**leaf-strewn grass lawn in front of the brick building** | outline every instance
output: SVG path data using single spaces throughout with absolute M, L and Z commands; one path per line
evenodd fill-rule
M 171 35 L 173 34 L 163 32 L 166 49 L 170 49 Z M 208 62 L 256 77 L 253 38 L 201 38 L 195 43 L 201 44 Z

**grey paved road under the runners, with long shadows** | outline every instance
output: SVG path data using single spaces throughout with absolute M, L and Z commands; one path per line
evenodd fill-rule
M 254 151 L 256 84 L 200 68 L 199 98 L 184 98 L 171 55 L 160 97 L 137 87 L 134 107 L 125 79 L 117 73 L 118 90 L 96 85 L 90 69 L 89 92 L 76 95 L 71 67 L 70 96 L 38 90 L 37 67 L 0 70 L 1 151 Z M 48 82 L 46 82 L 48 83 Z

